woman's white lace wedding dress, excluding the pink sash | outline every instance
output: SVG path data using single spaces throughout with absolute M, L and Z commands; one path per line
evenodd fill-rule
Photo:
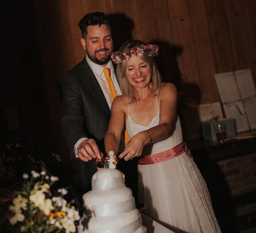
M 126 129 L 130 136 L 159 124 L 159 111 L 148 126 L 137 124 L 129 115 Z M 142 156 L 163 152 L 183 141 L 180 119 L 167 138 L 146 145 Z M 195 162 L 186 153 L 150 165 L 138 165 L 139 201 L 143 212 L 175 233 L 221 232 L 214 215 L 205 181 Z

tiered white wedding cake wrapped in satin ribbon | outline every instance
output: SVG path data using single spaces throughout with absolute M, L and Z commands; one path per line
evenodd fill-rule
M 135 208 L 132 191 L 125 186 L 124 174 L 119 170 L 97 171 L 92 177 L 92 191 L 83 195 L 83 202 L 91 216 L 84 213 L 79 221 L 79 233 L 147 232 Z

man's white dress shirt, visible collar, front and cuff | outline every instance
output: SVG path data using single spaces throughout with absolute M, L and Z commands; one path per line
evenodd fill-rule
M 101 90 L 102 90 L 102 92 L 103 92 L 103 94 L 104 94 L 104 96 L 105 96 L 105 98 L 106 98 L 106 101 L 107 101 L 107 103 L 108 103 L 109 109 L 111 109 L 112 99 L 111 99 L 111 96 L 110 96 L 110 93 L 109 93 L 109 89 L 108 89 L 106 77 L 105 77 L 105 74 L 104 74 L 104 72 L 103 72 L 103 69 L 104 69 L 105 67 L 102 67 L 102 66 L 100 66 L 100 65 L 98 65 L 98 64 L 95 64 L 94 62 L 92 62 L 92 61 L 88 58 L 87 55 L 86 55 L 85 59 L 86 59 L 88 65 L 90 66 L 90 68 L 92 69 L 92 72 L 93 72 L 93 74 L 95 75 L 95 77 L 96 77 L 96 79 L 97 79 L 97 81 L 98 81 L 98 83 L 99 83 L 99 85 L 100 85 L 100 88 L 101 88 Z M 111 76 L 113 85 L 114 85 L 114 87 L 115 87 L 115 89 L 116 89 L 117 95 L 118 95 L 118 96 L 121 96 L 121 95 L 122 95 L 122 92 L 121 92 L 121 89 L 120 89 L 119 84 L 118 84 L 118 82 L 117 82 L 117 79 L 116 79 L 116 76 L 115 76 L 115 72 L 114 72 L 113 63 L 112 63 L 111 59 L 109 60 L 109 62 L 108 62 L 108 64 L 106 65 L 106 67 L 108 67 L 108 68 L 110 69 L 110 76 Z M 80 139 L 76 142 L 76 144 L 75 144 L 75 146 L 74 146 L 74 151 L 75 151 L 76 157 L 78 157 L 78 156 L 77 156 L 77 147 L 78 147 L 79 144 L 80 144 L 83 140 L 85 140 L 85 139 L 89 139 L 89 138 L 87 138 L 87 137 L 82 137 L 82 138 L 80 138 Z

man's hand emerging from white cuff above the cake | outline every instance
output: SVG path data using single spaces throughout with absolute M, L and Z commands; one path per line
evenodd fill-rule
M 84 162 L 93 158 L 100 158 L 103 153 L 100 151 L 96 141 L 92 138 L 83 140 L 77 147 L 77 155 Z

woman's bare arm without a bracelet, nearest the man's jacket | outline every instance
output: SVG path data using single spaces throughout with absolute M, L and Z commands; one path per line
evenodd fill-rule
M 125 103 L 125 98 L 122 96 L 117 96 L 112 103 L 111 117 L 108 124 L 108 130 L 104 138 L 105 150 L 107 154 L 110 150 L 113 150 L 115 154 L 118 153 L 121 133 L 124 128 Z

